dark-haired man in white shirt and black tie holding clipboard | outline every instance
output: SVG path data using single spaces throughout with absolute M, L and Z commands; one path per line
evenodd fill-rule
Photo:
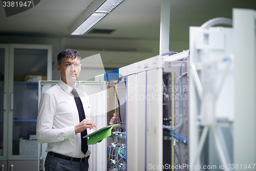
M 88 119 L 91 109 L 87 94 L 75 87 L 81 70 L 80 59 L 80 54 L 73 49 L 58 54 L 57 69 L 61 78 L 40 100 L 36 137 L 39 143 L 48 143 L 47 171 L 89 168 L 91 148 L 87 146 L 87 138 L 81 137 L 90 134 L 97 125 Z

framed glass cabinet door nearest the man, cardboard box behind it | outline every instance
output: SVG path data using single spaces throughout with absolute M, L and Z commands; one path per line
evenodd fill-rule
M 38 81 L 51 79 L 49 51 L 48 45 L 10 45 L 8 160 L 37 160 Z

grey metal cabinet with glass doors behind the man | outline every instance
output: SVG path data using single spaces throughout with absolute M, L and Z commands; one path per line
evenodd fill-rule
M 52 47 L 0 44 L 0 59 L 0 170 L 37 170 L 38 81 L 24 79 L 36 72 L 51 80 Z

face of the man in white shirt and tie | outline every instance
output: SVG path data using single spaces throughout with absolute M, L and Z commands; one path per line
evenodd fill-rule
M 66 84 L 76 81 L 81 70 L 81 64 L 79 58 L 71 60 L 71 58 L 63 58 L 60 65 L 57 65 L 57 69 L 60 72 L 61 80 Z

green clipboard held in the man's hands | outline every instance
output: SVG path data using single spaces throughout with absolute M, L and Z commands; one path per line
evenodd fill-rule
M 120 124 L 115 125 L 108 125 L 103 128 L 100 128 L 99 130 L 96 130 L 95 132 L 88 134 L 87 136 L 84 136 L 83 138 L 89 137 L 87 144 L 93 144 L 95 142 L 98 142 L 106 137 L 111 136 L 111 129 L 118 127 Z

